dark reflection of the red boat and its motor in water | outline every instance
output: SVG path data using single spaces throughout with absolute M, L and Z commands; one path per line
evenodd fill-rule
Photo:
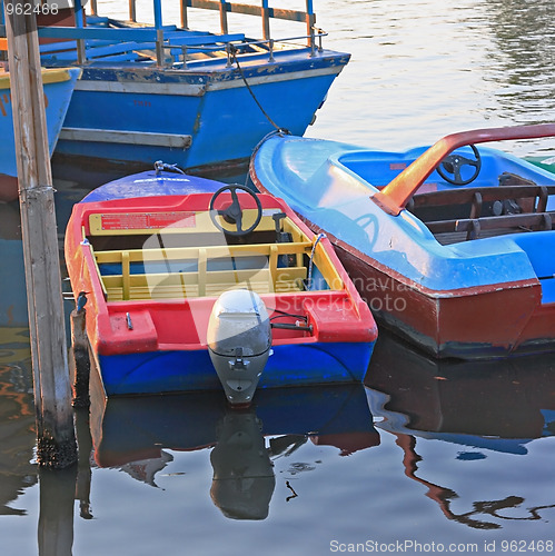
M 339 455 L 379 444 L 361 385 L 259 390 L 245 410 L 230 409 L 219 391 L 93 397 L 90 424 L 95 463 L 151 486 L 172 459 L 167 449 L 211 449 L 209 495 L 232 519 L 268 517 L 275 458 L 291 456 L 306 443 L 335 446 Z M 86 489 L 81 498 L 88 500 Z

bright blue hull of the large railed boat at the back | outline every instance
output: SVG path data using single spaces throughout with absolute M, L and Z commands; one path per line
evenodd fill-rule
M 310 57 L 309 49 L 276 54 L 271 63 L 266 56 L 245 70 L 249 88 L 225 61 L 199 71 L 88 68 L 56 156 L 126 170 L 156 160 L 197 172 L 246 163 L 274 123 L 305 132 L 348 59 L 330 51 Z

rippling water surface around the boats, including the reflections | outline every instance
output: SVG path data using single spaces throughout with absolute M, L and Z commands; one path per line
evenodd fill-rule
M 552 0 L 316 10 L 353 61 L 311 137 L 405 149 L 555 119 Z M 62 178 L 60 230 L 83 193 Z M 438 364 L 381 334 L 364 387 L 261 393 L 241 415 L 211 394 L 109 403 L 78 415 L 79 466 L 39 474 L 14 207 L 0 238 L 0 554 L 554 550 L 553 356 Z

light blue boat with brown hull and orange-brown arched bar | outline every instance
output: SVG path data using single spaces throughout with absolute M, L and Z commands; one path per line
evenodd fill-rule
M 251 178 L 325 231 L 378 322 L 436 357 L 555 350 L 555 175 L 475 143 L 478 129 L 385 152 L 279 135 Z

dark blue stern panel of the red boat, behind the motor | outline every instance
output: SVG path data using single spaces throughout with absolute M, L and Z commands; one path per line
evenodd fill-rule
M 258 388 L 361 383 L 374 345 L 319 342 L 274 346 Z M 108 397 L 221 389 L 207 349 L 98 355 L 97 365 Z

